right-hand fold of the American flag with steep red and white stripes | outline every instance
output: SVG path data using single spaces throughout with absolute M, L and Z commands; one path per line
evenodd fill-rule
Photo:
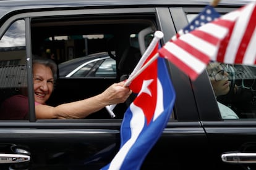
M 211 60 L 223 63 L 254 65 L 256 57 L 256 6 L 255 2 L 221 17 L 228 34 L 220 43 L 218 54 Z

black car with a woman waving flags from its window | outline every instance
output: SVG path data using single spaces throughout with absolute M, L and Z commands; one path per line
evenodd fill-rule
M 223 0 L 215 9 L 223 15 L 248 2 Z M 0 1 L 0 103 L 22 89 L 27 89 L 30 103 L 28 119 L 0 120 L 0 169 L 100 169 L 119 150 L 126 103 L 116 106 L 115 118 L 104 108 L 85 119 L 36 119 L 33 55 L 59 64 L 107 52 L 116 62 L 116 75 L 69 78 L 65 73 L 48 105 L 85 99 L 129 75 L 156 30 L 164 33 L 163 46 L 209 3 Z M 255 169 L 255 67 L 231 65 L 230 84 L 239 87 L 239 95 L 216 99 L 207 70 L 192 81 L 173 63 L 166 64 L 176 101 L 141 169 Z M 239 119 L 222 118 L 217 100 L 233 108 Z

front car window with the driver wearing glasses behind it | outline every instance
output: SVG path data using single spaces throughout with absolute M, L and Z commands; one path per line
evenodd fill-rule
M 187 14 L 191 22 L 197 14 Z M 255 65 L 210 62 L 207 73 L 223 119 L 256 118 Z

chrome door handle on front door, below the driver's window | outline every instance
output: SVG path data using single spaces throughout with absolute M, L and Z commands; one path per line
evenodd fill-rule
M 225 163 L 256 163 L 256 153 L 223 153 L 221 160 Z

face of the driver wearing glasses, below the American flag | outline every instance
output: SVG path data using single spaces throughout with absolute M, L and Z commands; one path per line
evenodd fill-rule
M 221 74 L 223 71 L 223 75 Z M 211 65 L 211 68 L 208 68 L 208 74 L 210 75 L 211 85 L 216 96 L 228 94 L 229 92 L 229 81 L 228 73 L 223 70 L 223 67 L 219 63 Z

